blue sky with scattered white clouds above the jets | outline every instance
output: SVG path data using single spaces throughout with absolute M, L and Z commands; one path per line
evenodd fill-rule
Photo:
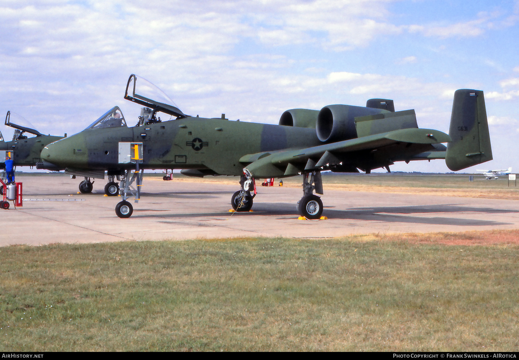
M 0 113 L 45 134 L 74 134 L 115 105 L 134 125 L 132 73 L 186 114 L 277 124 L 287 109 L 389 98 L 444 132 L 454 91 L 474 88 L 494 160 L 465 171 L 519 171 L 518 0 L 0 0 L 0 14 Z

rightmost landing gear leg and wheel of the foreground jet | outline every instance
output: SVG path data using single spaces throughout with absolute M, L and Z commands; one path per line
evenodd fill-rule
M 297 202 L 296 208 L 299 215 L 307 219 L 319 219 L 323 213 L 321 198 L 313 195 L 313 191 L 323 193 L 321 171 L 312 171 L 303 174 L 303 197 Z

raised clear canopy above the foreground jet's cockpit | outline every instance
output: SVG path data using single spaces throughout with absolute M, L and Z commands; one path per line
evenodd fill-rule
M 169 96 L 157 86 L 146 79 L 131 74 L 126 84 L 125 99 L 153 109 L 153 115 L 157 111 L 174 115 L 177 118 L 187 117 Z

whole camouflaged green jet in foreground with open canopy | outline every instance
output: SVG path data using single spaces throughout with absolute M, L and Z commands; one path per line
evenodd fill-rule
M 148 95 L 151 90 L 161 98 Z M 122 201 L 115 207 L 120 218 L 132 214 L 130 193 L 139 201 L 144 169 L 241 176 L 241 189 L 231 197 L 236 211 L 251 209 L 255 179 L 300 174 L 303 197 L 298 212 L 318 219 L 323 204 L 313 192 L 323 193 L 322 170 L 370 173 L 382 167 L 389 170 L 397 161 L 445 159 L 449 169 L 456 171 L 492 159 L 485 101 L 479 90 L 455 92 L 449 135 L 418 128 L 414 110 L 394 112 L 392 100 L 386 99 L 368 100 L 366 107 L 288 110 L 280 125 L 186 115 L 157 87 L 133 74 L 125 99 L 147 106 L 150 116 L 134 127 L 114 124 L 107 117 L 42 151 L 45 161 L 59 167 L 111 169 L 111 174 L 124 176 Z M 157 112 L 174 119 L 162 122 Z

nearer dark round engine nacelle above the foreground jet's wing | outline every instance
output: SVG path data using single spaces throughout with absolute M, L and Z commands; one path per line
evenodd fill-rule
M 357 138 L 355 118 L 388 113 L 387 110 L 353 105 L 328 105 L 319 111 L 316 131 L 319 140 L 341 141 Z

